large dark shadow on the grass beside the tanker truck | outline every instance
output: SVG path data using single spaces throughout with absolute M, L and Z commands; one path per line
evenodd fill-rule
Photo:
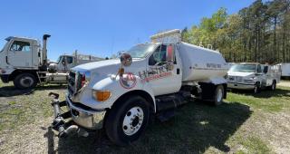
M 52 130 L 45 137 L 49 153 L 200 153 L 209 147 L 228 152 L 225 143 L 251 116 L 247 105 L 239 102 L 214 107 L 205 103 L 189 102 L 177 110 L 169 121 L 155 121 L 140 140 L 121 148 L 111 144 L 103 130 L 87 138 L 69 137 L 57 140 Z

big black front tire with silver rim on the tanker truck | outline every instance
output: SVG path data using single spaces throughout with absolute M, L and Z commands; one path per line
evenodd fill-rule
M 119 146 L 138 140 L 150 120 L 148 101 L 140 96 L 124 100 L 111 109 L 105 121 L 107 136 Z

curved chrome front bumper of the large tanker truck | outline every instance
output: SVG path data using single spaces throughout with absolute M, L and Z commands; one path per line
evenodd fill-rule
M 66 96 L 66 101 L 69 110 L 71 111 L 73 121 L 78 125 L 90 129 L 90 130 L 100 130 L 102 129 L 103 120 L 106 111 L 88 111 L 80 107 L 73 105 L 73 101 Z

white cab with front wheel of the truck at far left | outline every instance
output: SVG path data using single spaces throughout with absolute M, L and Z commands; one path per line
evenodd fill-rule
M 32 38 L 14 36 L 5 40 L 7 42 L 0 52 L 1 80 L 14 81 L 17 85 L 23 85 L 23 88 L 34 86 L 35 72 L 40 69 L 43 60 L 40 43 Z

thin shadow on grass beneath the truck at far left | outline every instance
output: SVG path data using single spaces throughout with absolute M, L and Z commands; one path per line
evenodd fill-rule
M 13 85 L 0 87 L 0 97 L 12 97 L 19 95 L 29 95 L 33 94 L 34 91 L 45 91 L 45 90 L 64 90 L 66 89 L 66 85 L 60 84 L 49 84 L 44 86 L 37 86 L 31 90 L 18 90 Z

